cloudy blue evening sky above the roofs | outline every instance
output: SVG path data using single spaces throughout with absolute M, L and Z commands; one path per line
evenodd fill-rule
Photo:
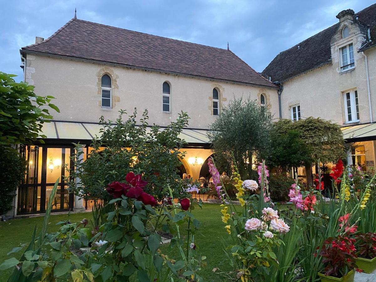
M 373 0 L 374 1 L 374 0 Z M 369 0 L 14 0 L 2 6 L 0 71 L 22 78 L 19 49 L 48 38 L 74 16 L 96 23 L 230 49 L 261 72 L 281 51 L 337 23 Z M 6 24 L 4 24 L 6 23 Z

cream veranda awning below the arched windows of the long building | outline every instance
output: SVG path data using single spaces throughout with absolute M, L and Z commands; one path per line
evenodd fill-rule
M 91 141 L 95 136 L 100 136 L 102 126 L 98 123 L 80 123 L 70 121 L 51 121 L 44 123 L 42 132 L 46 135 L 45 141 L 61 140 L 77 142 Z M 161 127 L 159 130 L 163 130 Z M 150 130 L 150 127 L 147 128 Z M 191 146 L 208 147 L 210 145 L 209 138 L 206 135 L 208 130 L 205 129 L 189 129 L 184 128 L 179 138 L 184 139 Z M 55 142 L 56 143 L 56 142 Z

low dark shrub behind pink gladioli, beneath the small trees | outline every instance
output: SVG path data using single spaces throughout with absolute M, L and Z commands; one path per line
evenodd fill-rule
M 288 202 L 290 200 L 288 193 L 293 183 L 295 181 L 291 177 L 271 174 L 269 177 L 269 191 L 273 202 Z

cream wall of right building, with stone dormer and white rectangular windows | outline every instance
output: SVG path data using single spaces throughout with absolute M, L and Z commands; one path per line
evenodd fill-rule
M 338 30 L 338 32 L 341 32 Z M 357 51 L 364 44 L 364 34 L 355 25 L 350 26 L 350 36 L 332 39 L 332 61 L 313 71 L 301 74 L 283 82 L 282 117 L 291 118 L 292 105 L 300 105 L 300 115 L 321 117 L 340 125 L 346 123 L 343 92 L 357 90 L 359 103 L 359 122 L 370 122 L 368 89 L 365 58 Z M 344 45 L 353 43 L 355 68 L 340 72 L 340 50 Z M 373 121 L 376 121 L 376 48 L 366 50 L 371 88 Z

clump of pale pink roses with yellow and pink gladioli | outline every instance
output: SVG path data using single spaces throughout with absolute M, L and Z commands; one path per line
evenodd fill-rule
M 218 170 L 212 159 L 209 163 L 214 181 Z M 216 185 L 222 199 L 222 221 L 226 224 L 224 228 L 232 238 L 232 244 L 227 247 L 227 251 L 238 265 L 237 279 L 246 282 L 260 277 L 265 280 L 265 273 L 270 272 L 271 264 L 277 263 L 274 250 L 282 244 L 280 236 L 289 232 L 290 226 L 273 208 L 268 193 L 268 171 L 264 162 L 258 169 L 259 183 L 255 180 L 241 180 L 235 162 L 233 170 L 240 207 L 235 206 L 232 201 L 226 201 L 228 194 L 223 183 Z

